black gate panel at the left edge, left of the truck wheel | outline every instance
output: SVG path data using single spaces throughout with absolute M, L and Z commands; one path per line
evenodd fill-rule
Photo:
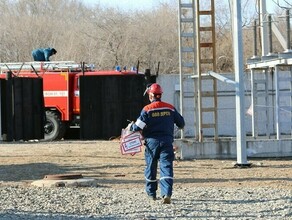
M 1 80 L 1 124 L 6 141 L 44 138 L 41 78 Z

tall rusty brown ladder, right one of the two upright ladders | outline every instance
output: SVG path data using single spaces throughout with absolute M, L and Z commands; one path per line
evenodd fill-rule
M 204 131 L 211 130 L 218 140 L 217 80 L 203 72 L 216 72 L 215 0 L 196 0 L 197 15 L 197 90 L 199 141 L 203 142 Z M 200 3 L 203 3 L 201 5 Z M 205 5 L 206 4 L 206 5 Z M 203 6 L 203 7 L 202 7 Z M 207 8 L 207 9 L 204 9 Z M 206 22 L 207 21 L 207 22 Z

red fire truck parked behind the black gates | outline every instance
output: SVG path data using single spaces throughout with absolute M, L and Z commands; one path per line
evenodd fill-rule
M 95 70 L 92 65 L 62 62 L 26 62 L 0 64 L 0 77 L 11 71 L 13 77 L 42 77 L 46 112 L 45 140 L 64 137 L 69 127 L 79 127 L 79 77 L 89 75 L 136 75 L 132 70 Z

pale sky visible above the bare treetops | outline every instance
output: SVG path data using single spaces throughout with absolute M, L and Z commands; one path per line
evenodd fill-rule
M 176 2 L 177 0 L 82 0 L 88 5 L 100 4 L 104 7 L 115 7 L 125 10 L 143 10 L 151 9 L 159 4 L 159 2 Z M 227 1 L 227 0 L 225 0 Z M 256 2 L 256 0 L 254 0 Z M 287 0 L 286 0 L 287 1 Z M 273 13 L 277 5 L 274 2 L 279 2 L 284 5 L 284 0 L 266 0 L 268 13 Z M 288 0 L 289 2 L 289 0 Z

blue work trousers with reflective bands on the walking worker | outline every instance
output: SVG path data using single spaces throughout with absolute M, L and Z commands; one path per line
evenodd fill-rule
M 170 141 L 162 141 L 153 138 L 145 140 L 145 179 L 146 192 L 149 196 L 156 197 L 158 187 L 157 168 L 160 168 L 160 192 L 161 196 L 171 196 L 173 187 L 173 160 L 174 151 Z

